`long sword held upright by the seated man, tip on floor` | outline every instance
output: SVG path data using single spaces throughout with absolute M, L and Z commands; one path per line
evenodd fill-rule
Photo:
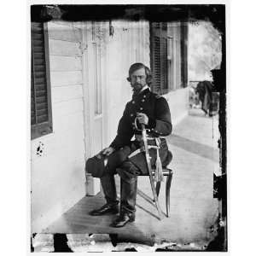
M 146 155 L 146 161 L 147 161 L 147 166 L 148 166 L 150 185 L 151 185 L 151 189 L 152 189 L 152 193 L 153 193 L 153 197 L 154 197 L 154 204 L 155 204 L 155 207 L 157 209 L 159 218 L 161 220 L 165 217 L 165 215 L 162 212 L 162 210 L 160 209 L 160 204 L 159 204 L 159 201 L 158 201 L 158 195 L 156 194 L 156 190 L 155 190 L 155 187 L 154 187 L 154 177 L 153 177 L 152 167 L 151 167 L 151 163 L 150 163 L 150 158 L 151 157 L 150 157 L 149 151 L 148 151 L 147 131 L 145 129 L 145 125 L 143 125 L 143 124 L 141 124 L 141 125 L 142 125 L 143 143 L 144 143 L 144 148 L 145 148 L 145 155 Z

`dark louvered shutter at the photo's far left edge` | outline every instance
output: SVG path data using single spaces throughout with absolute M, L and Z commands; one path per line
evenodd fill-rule
M 49 52 L 44 40 L 44 23 L 32 22 L 32 67 L 31 67 L 31 127 L 32 138 L 52 131 Z

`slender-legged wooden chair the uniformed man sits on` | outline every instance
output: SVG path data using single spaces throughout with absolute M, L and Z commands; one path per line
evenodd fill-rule
M 154 176 L 155 168 L 152 169 L 152 173 Z M 172 169 L 168 167 L 163 167 L 163 175 L 166 176 L 166 216 L 170 217 L 170 189 L 172 183 Z M 140 176 L 148 176 L 148 175 L 140 175 Z M 156 183 L 156 195 L 159 196 L 160 193 L 160 185 L 161 183 Z M 154 200 L 153 200 L 154 202 Z

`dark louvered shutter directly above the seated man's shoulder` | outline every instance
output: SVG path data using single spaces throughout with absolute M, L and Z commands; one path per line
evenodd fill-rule
M 151 38 L 151 70 L 154 83 L 151 90 L 163 94 L 168 88 L 167 84 L 167 32 L 165 22 L 152 22 L 150 24 Z

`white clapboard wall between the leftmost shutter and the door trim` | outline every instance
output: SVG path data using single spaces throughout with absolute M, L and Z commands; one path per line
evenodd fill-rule
M 32 232 L 40 232 L 85 195 L 82 34 L 49 22 L 53 133 L 32 140 Z M 42 155 L 37 155 L 43 143 Z

